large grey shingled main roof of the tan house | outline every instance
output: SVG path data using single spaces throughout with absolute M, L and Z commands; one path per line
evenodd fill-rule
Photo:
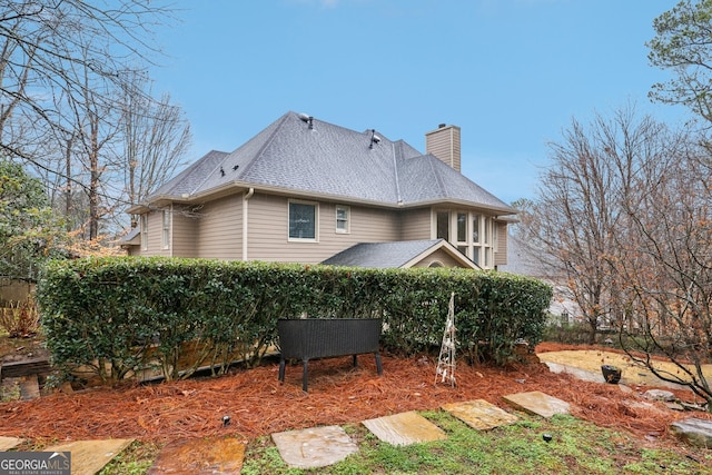
M 373 140 L 373 136 L 377 140 Z M 148 201 L 208 197 L 254 187 L 295 196 L 387 207 L 457 202 L 516 210 L 403 140 L 357 132 L 287 112 L 233 152 L 210 151 L 159 188 Z

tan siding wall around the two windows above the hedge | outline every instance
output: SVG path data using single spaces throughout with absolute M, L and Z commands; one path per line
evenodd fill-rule
M 314 202 L 299 199 L 299 202 Z M 395 211 L 349 206 L 349 232 L 336 231 L 336 204 L 318 202 L 318 236 L 314 241 L 289 240 L 289 198 L 256 192 L 249 201 L 248 259 L 320 263 L 357 243 L 398 240 Z

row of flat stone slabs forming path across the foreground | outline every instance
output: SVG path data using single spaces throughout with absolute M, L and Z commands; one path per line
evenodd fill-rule
M 544 418 L 555 414 L 568 414 L 568 403 L 541 392 L 517 393 L 504 396 L 514 409 Z M 515 423 L 518 417 L 483 399 L 445 404 L 441 407 L 463 420 L 475 431 L 488 431 Z M 415 412 L 394 414 L 363 422 L 378 439 L 395 445 L 428 443 L 447 438 L 437 425 Z M 685 424 L 709 438 L 699 438 L 701 446 L 712 444 L 712 423 L 689 419 L 676 423 L 673 432 L 683 432 Z M 325 426 L 273 434 L 280 457 L 295 468 L 310 469 L 336 464 L 358 452 L 358 445 L 339 426 Z M 684 438 L 683 438 L 684 439 Z M 702 441 L 702 442 L 699 442 Z M 0 436 L 0 452 L 11 451 L 22 439 Z M 58 445 L 43 452 L 71 452 L 72 475 L 98 473 L 132 441 L 86 441 Z M 208 475 L 239 474 L 246 445 L 231 437 L 219 439 L 181 439 L 166 445 L 159 453 L 150 475 Z

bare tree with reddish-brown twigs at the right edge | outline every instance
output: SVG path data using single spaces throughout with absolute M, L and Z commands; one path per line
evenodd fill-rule
M 690 142 L 693 144 L 693 142 Z M 619 239 L 615 273 L 639 316 L 622 331 L 634 360 L 661 379 L 689 386 L 712 410 L 702 365 L 712 357 L 712 168 L 701 147 L 679 146 L 647 164 L 623 201 L 630 232 Z M 640 353 L 644 356 L 639 356 Z M 664 354 L 675 372 L 655 365 Z

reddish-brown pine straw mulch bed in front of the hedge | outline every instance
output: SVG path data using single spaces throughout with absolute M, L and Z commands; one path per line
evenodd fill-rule
M 550 373 L 544 364 L 495 368 L 458 363 L 457 387 L 435 384 L 436 364 L 432 355 L 409 359 L 384 355 L 379 377 L 370 355 L 360 356 L 357 368 L 350 357 L 315 360 L 309 363 L 308 394 L 301 390 L 300 365 L 287 366 L 285 384 L 279 384 L 274 360 L 253 369 L 236 368 L 216 378 L 56 393 L 0 404 L 0 435 L 38 442 L 137 438 L 167 443 L 226 435 L 253 438 L 472 399 L 511 409 L 502 396 L 532 390 L 566 400 L 573 416 L 627 431 L 643 444 L 672 444 L 668 427 L 674 420 L 691 416 L 712 419 L 710 414 L 675 412 L 661 403 L 652 407 L 632 404 L 643 402 L 641 393 L 647 388 L 624 392 L 617 385 Z M 685 390 L 676 395 L 683 400 L 692 397 Z M 224 416 L 230 417 L 230 424 L 224 425 Z

